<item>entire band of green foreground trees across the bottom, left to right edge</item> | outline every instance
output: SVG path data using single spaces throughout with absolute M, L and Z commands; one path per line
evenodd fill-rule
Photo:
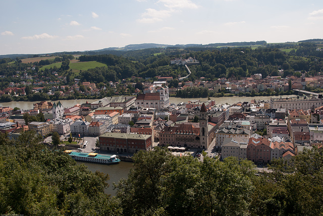
M 250 161 L 140 151 L 128 178 L 104 194 L 109 175 L 47 149 L 32 131 L 0 133 L 0 212 L 24 215 L 321 215 L 323 150 L 304 150 L 273 172 Z

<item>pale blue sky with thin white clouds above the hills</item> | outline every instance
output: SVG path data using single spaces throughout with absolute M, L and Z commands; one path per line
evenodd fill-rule
M 322 0 L 0 1 L 0 55 L 323 38 Z

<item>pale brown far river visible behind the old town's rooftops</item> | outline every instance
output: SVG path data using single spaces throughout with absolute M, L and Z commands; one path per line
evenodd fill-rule
M 244 101 L 248 101 L 250 102 L 251 100 L 256 99 L 256 100 L 270 100 L 271 96 L 258 96 L 258 97 L 238 97 L 238 96 L 233 96 L 233 97 L 221 97 L 221 98 L 211 98 L 211 100 L 215 100 L 216 104 L 235 104 L 238 102 L 244 102 Z M 63 106 L 65 108 L 69 108 L 69 107 L 73 107 L 76 104 L 83 104 L 89 102 L 92 103 L 94 101 L 97 101 L 98 99 L 79 99 L 79 100 L 60 100 L 61 103 L 63 104 Z M 175 98 L 175 97 L 170 97 L 170 103 L 175 103 L 178 104 L 180 102 L 188 102 L 189 100 L 200 100 L 200 101 L 206 101 L 207 98 Z M 23 110 L 29 110 L 29 109 L 33 109 L 33 104 L 34 103 L 38 103 L 40 101 L 34 101 L 34 102 L 30 102 L 30 101 L 11 101 L 11 102 L 6 102 L 6 103 L 0 103 L 0 106 L 3 107 L 11 107 L 11 108 L 15 108 L 15 107 L 19 107 L 20 109 Z M 58 101 L 51 101 L 53 102 L 58 102 Z

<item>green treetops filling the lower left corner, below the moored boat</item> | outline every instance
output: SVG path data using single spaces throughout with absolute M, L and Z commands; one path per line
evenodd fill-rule
M 63 151 L 46 149 L 30 132 L 0 146 L 0 176 L 2 214 L 122 213 L 118 200 L 103 192 L 109 175 L 92 173 Z

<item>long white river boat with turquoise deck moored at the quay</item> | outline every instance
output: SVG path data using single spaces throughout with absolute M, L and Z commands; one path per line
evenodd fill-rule
M 85 161 L 100 164 L 118 164 L 120 159 L 116 155 L 102 155 L 97 153 L 83 153 L 83 152 L 72 152 L 65 151 L 76 161 Z

